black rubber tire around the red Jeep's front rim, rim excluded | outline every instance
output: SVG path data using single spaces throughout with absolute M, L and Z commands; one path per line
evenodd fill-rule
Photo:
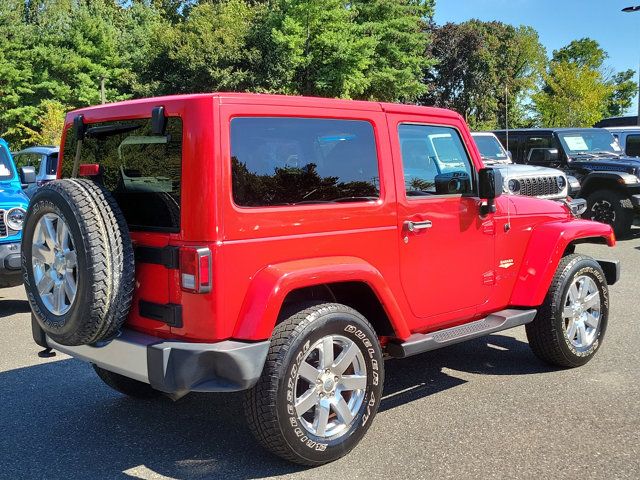
M 569 287 L 575 278 L 582 275 L 591 277 L 600 292 L 601 316 L 593 343 L 588 348 L 578 349 L 567 338 L 562 311 Z M 536 318 L 526 325 L 527 339 L 533 353 L 541 360 L 559 367 L 579 367 L 591 360 L 602 345 L 608 317 L 609 289 L 602 268 L 586 255 L 567 255 L 558 265 Z

